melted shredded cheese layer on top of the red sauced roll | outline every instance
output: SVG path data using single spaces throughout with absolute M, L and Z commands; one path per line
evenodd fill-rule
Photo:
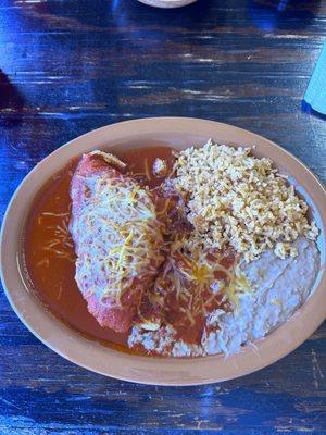
M 71 223 L 76 281 L 102 303 L 118 304 L 135 279 L 155 273 L 151 265 L 162 262 L 162 224 L 149 191 L 135 181 L 101 174 L 84 183 L 90 195 Z

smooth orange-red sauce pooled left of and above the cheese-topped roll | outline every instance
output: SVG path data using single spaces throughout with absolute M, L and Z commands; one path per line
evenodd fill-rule
M 128 164 L 128 173 L 150 187 L 164 179 L 152 174 L 155 158 L 165 159 L 170 170 L 174 162 L 173 149 L 168 147 L 139 148 L 115 154 Z M 35 295 L 55 316 L 88 337 L 130 351 L 125 347 L 128 333 L 118 334 L 102 327 L 89 314 L 74 278 L 75 253 L 67 225 L 71 217 L 70 184 L 75 167 L 76 162 L 71 162 L 35 198 L 26 220 L 24 269 Z

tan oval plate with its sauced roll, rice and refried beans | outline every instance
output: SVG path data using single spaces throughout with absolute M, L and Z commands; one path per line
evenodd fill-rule
M 1 275 L 49 348 L 121 380 L 196 385 L 279 360 L 326 315 L 326 192 L 298 159 L 230 125 L 105 126 L 15 191 Z

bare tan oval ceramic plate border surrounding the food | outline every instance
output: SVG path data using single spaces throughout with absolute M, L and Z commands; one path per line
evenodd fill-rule
M 45 182 L 70 159 L 96 148 L 134 148 L 166 145 L 179 149 L 208 138 L 234 145 L 256 146 L 258 156 L 272 158 L 296 179 L 312 206 L 322 228 L 319 248 L 325 262 L 326 191 L 294 157 L 263 137 L 212 121 L 159 117 L 128 121 L 90 132 L 59 148 L 41 161 L 16 190 L 4 217 L 1 240 L 2 283 L 22 322 L 52 350 L 84 368 L 104 375 L 146 384 L 195 385 L 229 380 L 262 369 L 303 343 L 326 316 L 326 274 L 321 273 L 314 295 L 286 324 L 256 348 L 244 347 L 224 356 L 198 359 L 156 359 L 130 356 L 84 338 L 52 316 L 24 285 L 18 266 L 21 232 L 33 198 Z

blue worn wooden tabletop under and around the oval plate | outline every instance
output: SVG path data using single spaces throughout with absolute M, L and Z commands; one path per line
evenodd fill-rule
M 0 0 L 0 212 L 35 164 L 113 122 L 198 116 L 281 145 L 326 182 L 326 120 L 302 96 L 326 2 Z M 199 387 L 120 382 L 41 345 L 0 294 L 0 434 L 326 433 L 326 327 L 281 361 Z

